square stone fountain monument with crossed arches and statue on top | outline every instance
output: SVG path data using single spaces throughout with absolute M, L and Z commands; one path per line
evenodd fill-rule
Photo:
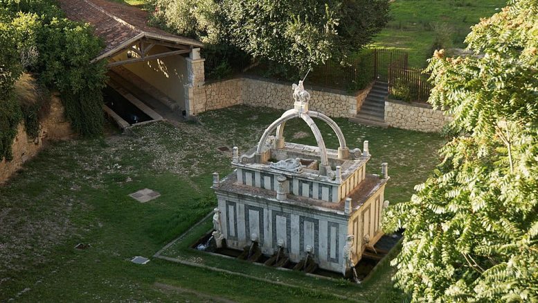
M 233 148 L 233 173 L 223 180 L 213 175 L 213 236 L 218 246 L 224 239 L 237 249 L 255 242 L 263 254 L 285 250 L 293 262 L 313 260 L 346 275 L 383 235 L 387 164 L 381 175 L 367 174 L 368 141 L 363 150 L 350 150 L 337 123 L 308 110 L 303 82 L 293 89 L 294 108 L 271 123 L 252 150 L 240 155 Z M 285 123 L 296 118 L 307 123 L 317 146 L 285 141 Z M 313 118 L 332 128 L 337 150 L 325 146 Z

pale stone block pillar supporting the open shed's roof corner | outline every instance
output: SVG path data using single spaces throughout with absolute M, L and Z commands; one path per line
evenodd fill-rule
M 200 58 L 200 49 L 192 49 L 189 58 L 186 58 L 188 80 L 185 85 L 185 108 L 187 118 L 205 110 L 204 61 L 206 60 Z

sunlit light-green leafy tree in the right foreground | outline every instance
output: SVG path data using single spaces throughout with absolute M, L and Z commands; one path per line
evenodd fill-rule
M 405 228 L 396 285 L 414 301 L 538 301 L 538 3 L 473 26 L 475 55 L 429 64 L 429 102 L 460 133 L 411 201 L 387 213 Z

